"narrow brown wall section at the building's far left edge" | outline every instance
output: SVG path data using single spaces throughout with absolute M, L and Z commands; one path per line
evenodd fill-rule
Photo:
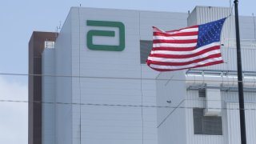
M 42 143 L 42 51 L 57 33 L 34 31 L 29 42 L 29 144 Z

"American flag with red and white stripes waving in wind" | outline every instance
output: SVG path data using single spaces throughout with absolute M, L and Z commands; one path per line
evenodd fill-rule
M 153 48 L 147 65 L 158 71 L 172 71 L 223 63 L 220 39 L 225 19 L 180 30 L 153 27 Z

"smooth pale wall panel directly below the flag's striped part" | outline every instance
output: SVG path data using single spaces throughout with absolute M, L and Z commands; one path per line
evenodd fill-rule
M 179 81 L 175 81 L 175 80 Z M 158 144 L 186 143 L 186 83 L 184 71 L 161 73 L 157 81 Z M 171 101 L 168 103 L 167 101 Z M 174 107 L 179 106 L 177 109 Z

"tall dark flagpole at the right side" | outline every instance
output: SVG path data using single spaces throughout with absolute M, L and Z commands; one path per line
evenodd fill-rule
M 245 106 L 244 106 L 243 86 L 242 86 L 242 60 L 241 60 L 239 20 L 238 20 L 238 0 L 234 0 L 234 13 L 235 13 L 234 17 L 235 17 L 235 30 L 236 30 L 236 41 L 237 41 L 238 94 L 239 94 L 241 144 L 246 144 L 246 118 L 245 118 Z

